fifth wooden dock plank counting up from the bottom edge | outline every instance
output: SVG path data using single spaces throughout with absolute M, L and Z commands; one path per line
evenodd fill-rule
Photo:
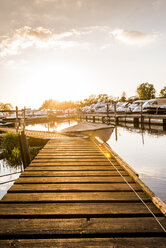
M 136 191 L 142 191 L 136 183 L 131 183 L 131 187 Z M 131 191 L 127 184 L 14 184 L 8 192 L 22 192 L 22 191 L 38 191 L 38 192 L 54 192 L 54 191 Z

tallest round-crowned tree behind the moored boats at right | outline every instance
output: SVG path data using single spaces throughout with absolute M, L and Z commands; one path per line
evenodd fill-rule
M 153 84 L 142 83 L 137 87 L 137 93 L 140 100 L 148 100 L 155 98 L 156 90 Z

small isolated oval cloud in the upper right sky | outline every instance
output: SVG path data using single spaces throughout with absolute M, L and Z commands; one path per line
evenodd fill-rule
M 153 42 L 156 39 L 155 34 L 145 34 L 138 31 L 115 29 L 111 35 L 122 43 L 127 45 L 144 45 Z

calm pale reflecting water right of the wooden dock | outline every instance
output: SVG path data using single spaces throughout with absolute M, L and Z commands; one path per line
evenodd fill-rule
M 166 203 L 166 132 L 117 126 L 108 144 Z

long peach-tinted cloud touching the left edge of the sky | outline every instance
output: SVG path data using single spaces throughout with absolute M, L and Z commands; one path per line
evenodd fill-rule
M 77 42 L 66 40 L 72 35 L 72 32 L 53 34 L 42 27 L 32 29 L 25 26 L 17 29 L 11 37 L 6 36 L 1 39 L 0 56 L 16 55 L 29 47 L 64 49 L 77 46 Z

